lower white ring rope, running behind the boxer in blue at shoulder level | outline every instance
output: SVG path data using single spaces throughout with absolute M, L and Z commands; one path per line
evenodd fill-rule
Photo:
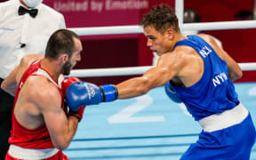
M 239 63 L 239 66 L 244 71 L 256 70 L 256 63 Z M 129 68 L 92 68 L 92 69 L 73 69 L 69 76 L 76 77 L 96 77 L 96 76 L 133 76 L 142 75 L 149 68 L 144 67 L 129 67 Z

